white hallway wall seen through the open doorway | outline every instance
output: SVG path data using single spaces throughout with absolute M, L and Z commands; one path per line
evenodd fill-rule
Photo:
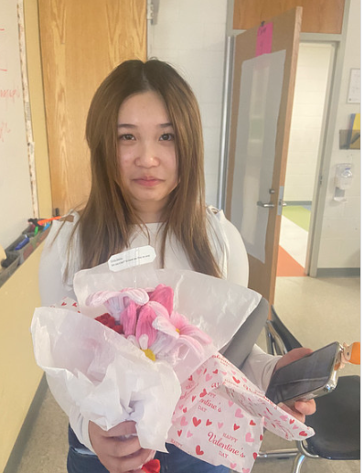
M 284 184 L 285 201 L 311 202 L 327 91 L 330 44 L 301 43 Z

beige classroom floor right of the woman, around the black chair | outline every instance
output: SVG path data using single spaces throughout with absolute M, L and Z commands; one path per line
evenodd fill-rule
M 305 347 L 318 349 L 332 341 L 360 340 L 360 279 L 278 277 L 274 307 L 284 324 Z M 258 339 L 266 349 L 264 333 Z M 341 375 L 360 375 L 360 367 L 347 365 Z M 262 451 L 294 448 L 266 432 Z M 252 473 L 290 473 L 294 459 L 255 462 Z M 359 473 L 360 461 L 305 458 L 301 473 Z

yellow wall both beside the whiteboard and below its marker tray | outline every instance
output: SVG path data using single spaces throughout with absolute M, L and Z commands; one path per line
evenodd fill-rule
M 52 215 L 52 204 L 37 0 L 24 0 L 24 12 L 39 217 L 47 218 Z M 4 471 L 43 374 L 34 360 L 29 331 L 34 309 L 40 306 L 37 271 L 42 246 L 0 287 L 0 472 Z

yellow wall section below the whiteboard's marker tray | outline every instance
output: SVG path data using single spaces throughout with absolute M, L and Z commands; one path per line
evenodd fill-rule
M 43 374 L 34 360 L 29 331 L 34 309 L 40 306 L 37 268 L 41 248 L 0 287 L 0 471 Z

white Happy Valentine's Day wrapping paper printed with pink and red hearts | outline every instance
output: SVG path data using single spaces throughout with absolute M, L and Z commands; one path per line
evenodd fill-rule
M 250 473 L 264 427 L 287 440 L 313 434 L 218 354 L 182 384 L 167 441 L 212 465 Z

